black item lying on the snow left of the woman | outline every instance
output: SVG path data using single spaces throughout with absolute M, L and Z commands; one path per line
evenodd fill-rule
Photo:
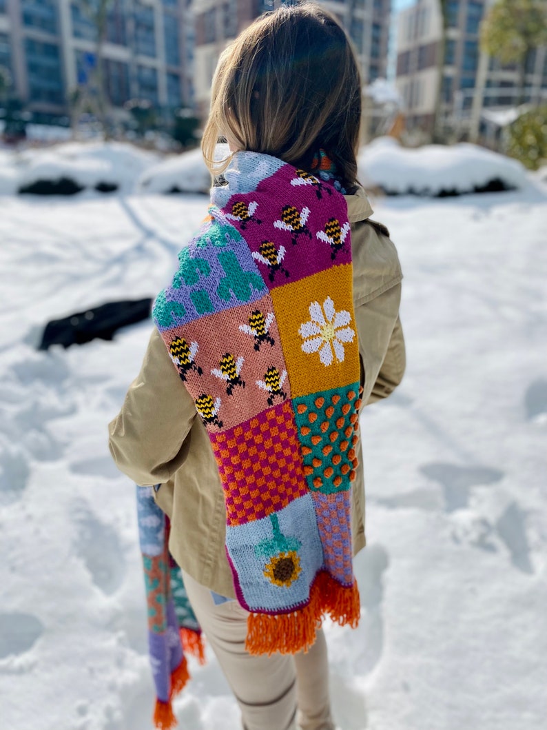
M 47 323 L 39 350 L 51 345 L 83 345 L 92 339 L 112 339 L 115 331 L 150 317 L 152 299 L 109 301 Z

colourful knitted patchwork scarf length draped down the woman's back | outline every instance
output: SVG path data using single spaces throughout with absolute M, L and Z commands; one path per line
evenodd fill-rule
M 236 153 L 153 317 L 209 434 L 250 653 L 295 653 L 323 615 L 356 626 L 351 487 L 360 366 L 347 204 Z

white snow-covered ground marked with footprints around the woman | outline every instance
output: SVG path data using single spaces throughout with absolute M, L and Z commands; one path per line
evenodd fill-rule
M 341 730 L 544 730 L 547 185 L 373 201 L 408 370 L 362 418 L 362 620 L 327 626 Z M 203 196 L 0 198 L 0 726 L 150 730 L 134 488 L 106 424 L 150 324 L 36 351 L 44 323 L 153 296 Z M 181 730 L 238 730 L 214 659 Z M 192 660 L 190 660 L 192 661 Z

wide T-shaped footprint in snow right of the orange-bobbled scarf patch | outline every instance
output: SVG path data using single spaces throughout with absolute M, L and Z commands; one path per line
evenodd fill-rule
M 465 509 L 471 487 L 494 484 L 504 476 L 499 469 L 489 466 L 457 466 L 441 462 L 424 464 L 420 471 L 443 487 L 446 512 Z

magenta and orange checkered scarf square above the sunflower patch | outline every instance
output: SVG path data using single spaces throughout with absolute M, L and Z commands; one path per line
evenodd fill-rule
M 290 401 L 209 437 L 228 525 L 260 520 L 308 493 Z

